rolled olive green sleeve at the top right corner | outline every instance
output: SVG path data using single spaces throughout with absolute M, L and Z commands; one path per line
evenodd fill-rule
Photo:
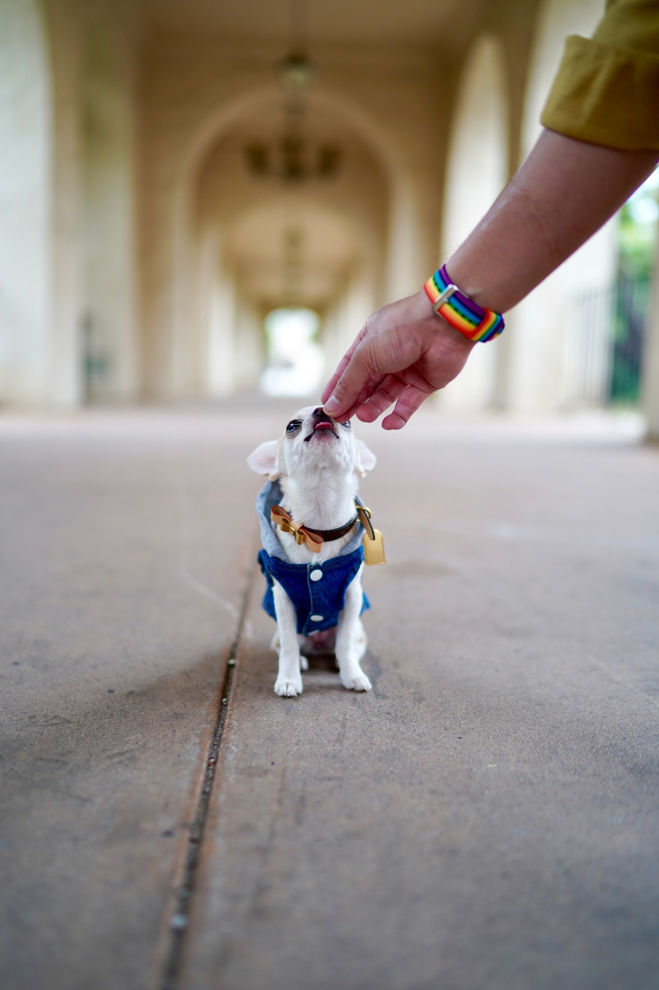
M 610 0 L 593 38 L 567 39 L 540 123 L 592 145 L 659 150 L 659 0 Z

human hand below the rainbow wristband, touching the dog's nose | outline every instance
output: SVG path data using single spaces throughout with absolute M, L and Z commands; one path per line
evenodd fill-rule
M 473 343 L 436 316 L 424 290 L 383 306 L 346 350 L 322 395 L 334 419 L 357 417 L 400 430 L 428 395 L 464 367 Z

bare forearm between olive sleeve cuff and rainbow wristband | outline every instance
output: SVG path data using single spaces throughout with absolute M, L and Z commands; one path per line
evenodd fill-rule
M 447 261 L 451 279 L 479 305 L 505 312 L 609 220 L 656 159 L 656 151 L 617 151 L 544 131 Z

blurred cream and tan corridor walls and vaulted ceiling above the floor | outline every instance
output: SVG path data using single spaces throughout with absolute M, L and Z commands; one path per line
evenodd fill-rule
M 312 3 L 293 91 L 283 0 L 253 21 L 177 0 L 5 0 L 0 401 L 256 388 L 263 320 L 282 305 L 318 313 L 326 374 L 368 313 L 416 291 L 496 198 L 539 132 L 566 34 L 592 31 L 600 9 L 419 0 L 367 25 Z M 31 107 L 18 129 L 17 94 Z M 509 314 L 437 409 L 611 401 L 616 224 Z

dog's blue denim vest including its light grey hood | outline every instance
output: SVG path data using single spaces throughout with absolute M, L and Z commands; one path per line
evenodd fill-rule
M 258 562 L 265 575 L 267 588 L 263 608 L 276 619 L 272 587 L 281 584 L 295 606 L 298 633 L 311 636 L 332 629 L 338 623 L 338 613 L 345 605 L 345 592 L 364 560 L 363 527 L 357 523 L 355 534 L 341 552 L 323 563 L 290 563 L 277 537 L 270 509 L 282 498 L 278 481 L 268 481 L 256 499 L 256 512 L 261 527 L 264 549 L 259 550 Z M 362 592 L 363 595 L 363 592 Z M 363 595 L 361 611 L 370 608 Z

